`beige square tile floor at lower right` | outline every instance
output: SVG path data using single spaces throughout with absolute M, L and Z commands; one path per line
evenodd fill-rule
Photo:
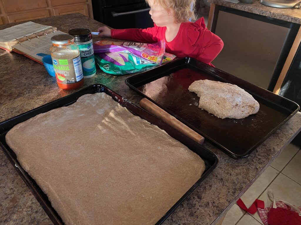
M 271 205 L 268 190 L 274 196 L 286 200 L 293 205 L 301 206 L 301 149 L 300 145 L 290 143 L 262 175 L 243 194 L 241 199 L 247 207 L 260 199 L 265 207 Z M 277 201 L 277 200 L 276 200 Z M 236 204 L 226 214 L 222 225 L 260 225 L 263 224 L 258 212 L 251 215 L 241 210 Z

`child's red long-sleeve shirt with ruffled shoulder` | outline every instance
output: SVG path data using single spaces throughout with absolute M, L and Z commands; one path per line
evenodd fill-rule
M 217 35 L 210 32 L 205 25 L 204 18 L 196 22 L 182 22 L 175 38 L 167 42 L 165 38 L 166 27 L 147 29 L 112 29 L 111 36 L 116 39 L 155 43 L 165 40 L 165 51 L 178 57 L 192 57 L 212 65 L 210 62 L 222 50 L 224 43 Z

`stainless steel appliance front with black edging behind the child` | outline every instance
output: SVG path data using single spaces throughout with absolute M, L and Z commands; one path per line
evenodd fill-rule
M 219 6 L 211 31 L 224 42 L 213 65 L 272 91 L 300 25 Z

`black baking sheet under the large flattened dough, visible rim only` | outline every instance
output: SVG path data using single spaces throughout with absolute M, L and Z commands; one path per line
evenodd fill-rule
M 189 149 L 191 149 L 193 152 L 195 152 L 197 155 L 199 155 L 205 162 L 206 169 L 203 173 L 203 175 L 200 177 L 200 179 L 178 200 L 178 202 L 175 203 L 175 205 L 170 208 L 170 210 L 163 215 L 163 217 L 156 223 L 161 224 L 163 221 L 172 213 L 172 211 L 175 210 L 175 208 L 208 176 L 209 173 L 212 172 L 212 170 L 216 167 L 218 163 L 218 159 L 216 155 L 213 152 L 210 152 L 209 150 L 203 148 L 198 143 L 194 142 L 193 140 L 189 139 L 185 135 L 181 134 L 180 132 L 176 131 L 175 129 L 169 127 L 165 123 L 161 122 L 145 110 L 141 109 L 140 107 L 137 107 L 132 102 L 128 101 L 127 99 L 124 99 L 122 96 L 118 95 L 116 92 L 108 89 L 107 87 L 95 84 L 91 85 L 85 89 L 82 89 L 76 93 L 73 93 L 71 95 L 68 95 L 64 98 L 60 98 L 58 100 L 52 101 L 48 104 L 45 104 L 41 107 L 38 107 L 36 109 L 30 110 L 26 113 L 23 113 L 19 116 L 13 117 L 11 119 L 8 119 L 2 123 L 0 123 L 0 147 L 11 162 L 13 164 L 14 168 L 17 170 L 23 181 L 27 184 L 29 189 L 32 191 L 33 195 L 36 197 L 38 202 L 42 205 L 43 209 L 48 214 L 49 218 L 55 225 L 62 225 L 64 224 L 61 220 L 61 217 L 57 214 L 57 212 L 52 208 L 51 203 L 48 200 L 48 197 L 45 193 L 41 190 L 41 188 L 36 184 L 36 182 L 26 173 L 22 167 L 20 167 L 20 164 L 16 158 L 16 155 L 14 152 L 9 148 L 9 146 L 5 142 L 5 135 L 6 133 L 15 125 L 17 125 L 20 122 L 24 122 L 27 119 L 36 116 L 40 113 L 45 113 L 49 110 L 63 107 L 70 105 L 76 100 L 85 94 L 94 94 L 96 92 L 105 92 L 106 94 L 110 95 L 115 101 L 119 102 L 123 107 L 126 107 L 130 112 L 132 112 L 134 115 L 140 116 L 142 119 L 147 120 L 148 122 L 157 125 L 159 128 L 165 130 L 171 137 L 179 140 L 181 143 L 186 145 Z M 118 140 L 118 137 L 116 137 L 116 140 Z M 76 198 L 76 196 L 74 196 Z

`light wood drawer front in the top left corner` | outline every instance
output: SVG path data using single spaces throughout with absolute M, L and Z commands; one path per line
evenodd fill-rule
M 32 9 L 40 9 L 46 8 L 47 0 L 27 0 L 27 1 L 20 1 L 20 0 L 2 0 L 4 11 L 6 13 L 14 13 L 20 12 L 25 10 L 32 10 Z M 41 17 L 34 17 L 35 19 Z

